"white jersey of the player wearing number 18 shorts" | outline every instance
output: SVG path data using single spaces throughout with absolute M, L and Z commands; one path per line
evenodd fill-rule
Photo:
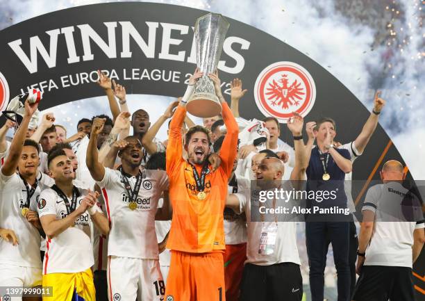
M 143 170 L 142 177 L 134 210 L 129 207 L 130 197 L 119 170 L 105 168 L 105 176 L 97 182 L 110 220 L 108 256 L 158 259 L 155 215 L 158 200 L 168 189 L 168 177 L 160 170 Z M 127 179 L 133 191 L 136 177 Z

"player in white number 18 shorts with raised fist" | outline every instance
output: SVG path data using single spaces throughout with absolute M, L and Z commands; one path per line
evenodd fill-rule
M 155 217 L 158 199 L 168 187 L 167 174 L 140 171 L 142 143 L 135 136 L 126 137 L 124 147 L 119 150 L 122 165 L 118 170 L 103 167 L 98 161 L 96 141 L 104 122 L 99 118 L 93 121 L 86 163 L 101 187 L 111 225 L 108 298 L 160 301 L 164 298 L 165 284 L 158 262 Z

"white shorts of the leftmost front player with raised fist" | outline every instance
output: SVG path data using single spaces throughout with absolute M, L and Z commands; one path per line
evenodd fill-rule
M 11 264 L 2 263 L 0 266 L 0 286 L 38 286 L 42 284 L 42 269 L 30 268 L 27 266 L 13 266 Z M 22 301 L 22 297 L 10 297 L 1 295 L 0 300 L 5 301 Z

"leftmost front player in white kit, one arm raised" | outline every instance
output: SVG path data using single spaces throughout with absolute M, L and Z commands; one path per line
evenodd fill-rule
M 38 143 L 24 140 L 31 116 L 37 107 L 38 104 L 25 101 L 25 115 L 0 171 L 0 228 L 12 230 L 11 233 L 19 241 L 19 244 L 15 244 L 0 240 L 1 287 L 38 286 L 42 282 L 42 228 L 36 212 L 36 199 L 45 176 L 40 174 L 37 178 L 40 163 Z M 12 234 L 8 235 L 13 238 Z M 6 297 L 0 295 L 0 299 L 6 300 Z M 22 298 L 12 297 L 12 300 Z

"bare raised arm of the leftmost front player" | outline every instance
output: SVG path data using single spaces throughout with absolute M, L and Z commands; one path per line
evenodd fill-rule
M 19 162 L 19 157 L 21 156 L 22 147 L 24 145 L 26 131 L 28 129 L 28 124 L 31 120 L 31 116 L 37 110 L 38 102 L 30 104 L 28 99 L 25 101 L 25 113 L 22 119 L 19 129 L 16 131 L 15 136 L 13 137 L 12 144 L 10 145 L 9 156 L 6 158 L 3 166 L 1 167 L 1 173 L 5 176 L 11 176 L 16 172 L 16 168 Z

